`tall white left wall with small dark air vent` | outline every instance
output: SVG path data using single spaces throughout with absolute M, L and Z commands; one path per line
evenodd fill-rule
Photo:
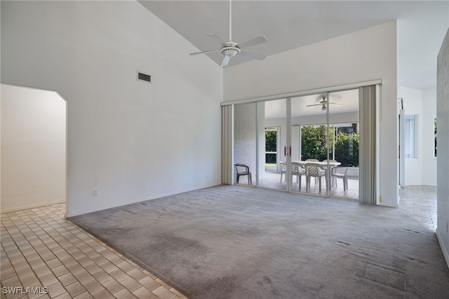
M 1 1 L 1 81 L 68 102 L 69 216 L 220 184 L 222 69 L 195 51 L 137 1 Z

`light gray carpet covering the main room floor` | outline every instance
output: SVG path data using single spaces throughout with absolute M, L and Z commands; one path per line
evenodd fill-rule
M 191 298 L 449 298 L 398 208 L 217 186 L 71 218 Z

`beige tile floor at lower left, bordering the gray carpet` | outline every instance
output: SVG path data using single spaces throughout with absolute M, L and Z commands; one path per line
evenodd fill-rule
M 1 298 L 187 298 L 64 213 L 55 204 L 1 214 Z

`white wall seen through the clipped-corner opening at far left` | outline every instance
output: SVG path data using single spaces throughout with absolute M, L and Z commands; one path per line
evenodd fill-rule
M 65 201 L 66 102 L 1 84 L 1 213 Z

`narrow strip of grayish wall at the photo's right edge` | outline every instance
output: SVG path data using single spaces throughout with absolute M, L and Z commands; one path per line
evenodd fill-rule
M 436 107 L 438 119 L 438 187 L 437 213 L 438 225 L 436 236 L 449 266 L 449 30 L 438 53 Z

